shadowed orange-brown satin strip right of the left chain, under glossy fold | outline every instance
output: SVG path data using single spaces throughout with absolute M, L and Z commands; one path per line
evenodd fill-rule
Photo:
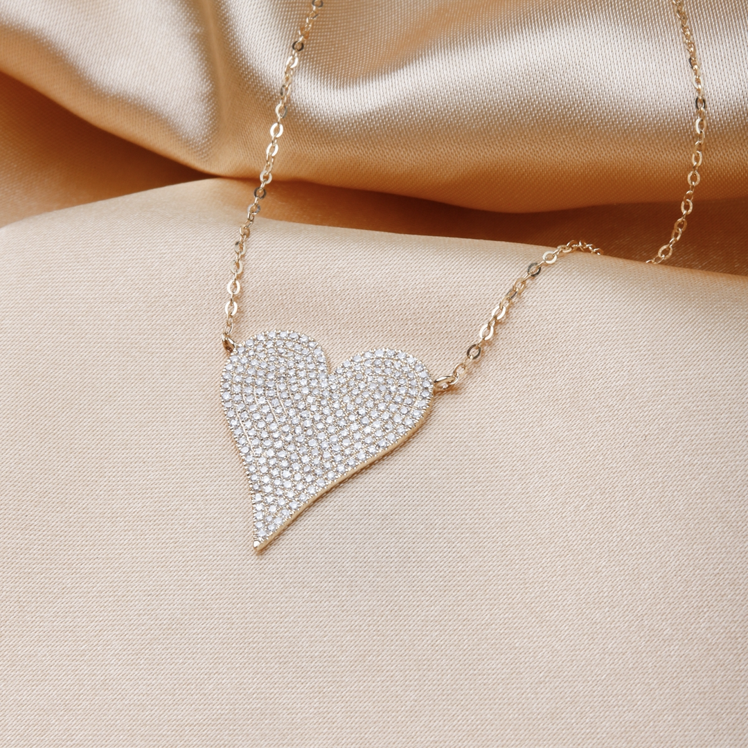
M 248 201 L 251 191 L 247 189 Z M 545 213 L 493 213 L 308 183 L 273 183 L 263 215 L 322 226 L 461 236 L 556 247 L 583 238 L 607 255 L 648 260 L 669 237 L 672 203 L 604 205 Z M 663 229 L 664 227 L 664 229 Z M 669 266 L 748 275 L 748 198 L 702 200 Z

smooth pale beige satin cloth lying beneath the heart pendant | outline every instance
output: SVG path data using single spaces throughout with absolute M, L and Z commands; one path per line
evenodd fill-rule
M 257 556 L 218 404 L 246 191 L 0 231 L 0 744 L 746 744 L 747 281 L 565 258 Z M 260 221 L 240 333 L 441 373 L 541 251 Z

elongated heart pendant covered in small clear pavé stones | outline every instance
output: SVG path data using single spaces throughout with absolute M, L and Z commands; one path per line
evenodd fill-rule
M 254 548 L 399 447 L 423 423 L 432 394 L 426 367 L 402 351 L 367 351 L 328 373 L 307 335 L 266 332 L 236 346 L 221 402 L 249 478 Z

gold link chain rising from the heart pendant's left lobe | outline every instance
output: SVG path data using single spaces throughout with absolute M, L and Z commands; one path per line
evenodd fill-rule
M 304 45 L 309 39 L 312 26 L 319 10 L 322 8 L 322 0 L 311 0 L 311 8 L 304 25 L 298 31 L 293 43 L 291 44 L 291 54 L 286 60 L 286 70 L 283 72 L 283 84 L 281 85 L 281 96 L 278 104 L 275 105 L 275 122 L 270 126 L 270 142 L 265 150 L 265 166 L 260 171 L 260 186 L 254 191 L 254 200 L 247 209 L 247 220 L 239 227 L 239 240 L 234 244 L 234 260 L 231 263 L 231 280 L 227 283 L 226 290 L 229 299 L 226 302 L 226 324 L 224 325 L 224 334 L 221 338 L 224 348 L 227 352 L 232 353 L 236 349 L 236 343 L 231 338 L 233 330 L 233 321 L 236 316 L 239 305 L 239 293 L 242 291 L 242 283 L 239 279 L 242 277 L 244 270 L 243 258 L 246 252 L 246 242 L 254 224 L 257 213 L 260 212 L 260 201 L 265 199 L 267 186 L 273 180 L 273 165 L 275 156 L 278 155 L 278 138 L 283 135 L 283 118 L 288 112 L 289 95 L 291 93 L 291 84 L 293 76 L 298 67 L 299 55 L 304 49 Z

